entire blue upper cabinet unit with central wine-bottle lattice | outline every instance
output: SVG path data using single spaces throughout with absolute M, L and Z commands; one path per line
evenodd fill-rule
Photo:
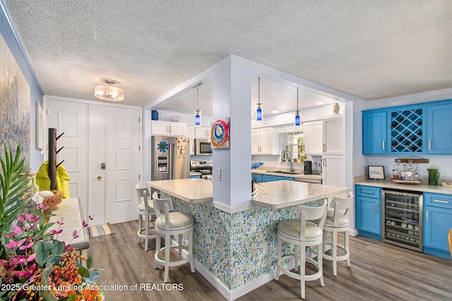
M 362 111 L 362 154 L 452 154 L 452 99 Z

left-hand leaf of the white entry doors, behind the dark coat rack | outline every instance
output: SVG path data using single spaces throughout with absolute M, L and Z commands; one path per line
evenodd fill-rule
M 88 104 L 61 102 L 49 99 L 47 102 L 47 127 L 57 129 L 57 161 L 64 160 L 62 166 L 69 178 L 71 197 L 79 197 L 83 213 L 88 214 Z M 46 134 L 48 135 L 48 134 Z M 48 157 L 47 157 L 48 160 Z M 86 216 L 85 216 L 86 217 Z

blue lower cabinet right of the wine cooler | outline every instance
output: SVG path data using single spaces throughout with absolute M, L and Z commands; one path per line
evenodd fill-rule
M 452 195 L 424 192 L 424 253 L 451 259 Z

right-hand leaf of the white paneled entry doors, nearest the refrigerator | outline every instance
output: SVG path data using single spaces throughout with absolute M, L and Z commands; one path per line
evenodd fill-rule
M 107 199 L 109 222 L 136 219 L 140 174 L 140 111 L 107 108 Z

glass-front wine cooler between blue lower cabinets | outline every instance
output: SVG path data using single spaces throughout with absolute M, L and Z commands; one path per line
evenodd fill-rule
M 381 240 L 422 252 L 422 194 L 382 190 Z

